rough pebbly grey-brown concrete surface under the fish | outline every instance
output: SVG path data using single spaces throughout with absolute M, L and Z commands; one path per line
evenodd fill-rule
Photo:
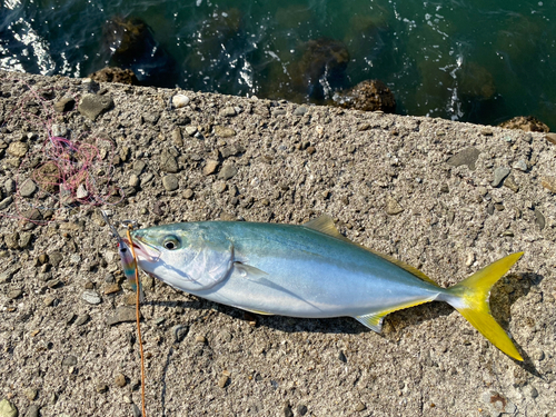
M 252 317 L 146 278 L 147 415 L 554 415 L 552 137 L 60 77 L 0 72 L 0 396 L 20 416 L 119 417 L 140 406 L 135 324 L 107 324 L 132 294 L 118 290 L 108 227 L 87 205 L 52 210 L 44 226 L 22 219 L 33 207 L 48 216 L 48 198 L 23 187 L 40 166 L 29 161 L 47 158 L 38 121 L 75 141 L 113 141 L 112 183 L 126 197 L 102 207 L 115 220 L 300 224 L 329 214 L 350 239 L 443 286 L 525 251 L 490 297 L 523 364 L 439 302 L 388 316 L 377 335 L 350 318 Z M 91 92 L 105 107 L 81 113 Z M 178 92 L 190 102 L 169 110 Z M 54 112 L 64 96 L 75 108 Z M 510 175 L 494 187 L 497 168 Z

